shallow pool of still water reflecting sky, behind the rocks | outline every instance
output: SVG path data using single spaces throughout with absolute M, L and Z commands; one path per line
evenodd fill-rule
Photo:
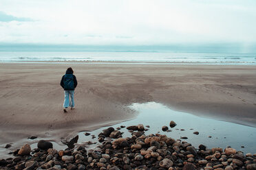
M 208 148 L 231 146 L 237 151 L 243 151 L 244 154 L 256 153 L 256 127 L 198 117 L 193 114 L 171 110 L 167 106 L 156 102 L 132 104 L 130 107 L 139 112 L 138 117 L 131 121 L 111 125 L 111 127 L 116 129 L 121 125 L 126 127 L 138 124 L 149 125 L 149 128 L 145 127 L 149 129 L 145 131 L 146 135 L 160 133 L 166 134 L 171 138 L 187 141 L 195 147 L 200 144 L 206 145 Z M 169 127 L 170 121 L 175 121 L 177 125 L 173 128 Z M 163 125 L 168 126 L 171 132 L 163 132 Z M 85 132 L 79 133 L 78 143 L 84 143 L 85 141 L 96 143 L 98 134 L 106 128 L 101 127 L 98 130 L 89 132 L 89 136 L 85 136 Z M 122 134 L 123 137 L 131 137 L 131 133 L 126 128 L 122 128 L 120 131 L 124 132 Z M 199 134 L 196 135 L 193 132 L 199 132 Z M 96 138 L 92 139 L 92 135 L 95 135 Z M 187 137 L 187 139 L 182 139 L 181 137 Z M 90 147 L 95 146 L 91 145 Z

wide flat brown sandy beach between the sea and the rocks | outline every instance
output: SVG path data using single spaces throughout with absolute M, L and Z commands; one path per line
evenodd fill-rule
M 76 109 L 63 113 L 62 75 L 78 80 Z M 174 110 L 256 127 L 256 66 L 1 63 L 0 143 L 72 136 L 125 121 L 128 106 L 156 101 Z

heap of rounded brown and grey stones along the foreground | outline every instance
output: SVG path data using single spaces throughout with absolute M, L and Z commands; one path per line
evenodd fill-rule
M 174 126 L 171 122 L 170 127 Z M 0 169 L 256 169 L 256 154 L 244 154 L 231 147 L 195 147 L 162 134 L 146 136 L 147 129 L 142 124 L 126 127 L 131 137 L 125 138 L 120 128 L 124 126 L 116 130 L 109 127 L 98 134 L 99 145 L 94 149 L 74 145 L 78 137 L 67 143 L 67 149 L 60 151 L 52 148 L 49 141 L 39 141 L 36 149 L 25 144 L 10 153 L 14 158 L 1 159 Z

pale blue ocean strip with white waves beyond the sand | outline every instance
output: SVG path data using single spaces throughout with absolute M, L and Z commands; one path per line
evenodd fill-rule
M 256 53 L 1 51 L 0 62 L 167 62 L 255 65 Z

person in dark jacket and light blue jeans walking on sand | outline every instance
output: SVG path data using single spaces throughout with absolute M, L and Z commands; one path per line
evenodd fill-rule
M 67 112 L 67 108 L 70 106 L 71 110 L 74 109 L 74 90 L 77 86 L 76 76 L 73 75 L 74 71 L 70 67 L 67 69 L 65 75 L 61 79 L 61 86 L 64 88 L 64 103 L 63 111 Z

